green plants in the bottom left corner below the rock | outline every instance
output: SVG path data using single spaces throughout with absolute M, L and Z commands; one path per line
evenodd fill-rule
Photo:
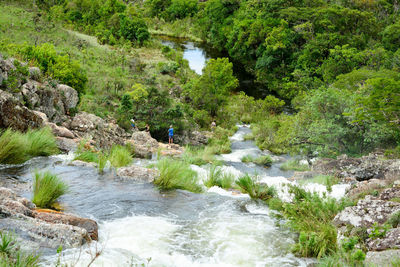
M 23 253 L 11 232 L 0 231 L 0 267 L 37 267 L 39 255 Z

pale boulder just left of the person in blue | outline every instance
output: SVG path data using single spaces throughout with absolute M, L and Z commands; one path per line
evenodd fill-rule
M 150 158 L 158 149 L 158 142 L 152 138 L 149 132 L 137 131 L 126 141 L 135 148 L 135 155 L 142 158 Z

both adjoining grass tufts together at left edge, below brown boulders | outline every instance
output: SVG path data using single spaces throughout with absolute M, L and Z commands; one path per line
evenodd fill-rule
M 33 157 L 56 153 L 56 140 L 48 127 L 26 133 L 7 129 L 0 136 L 0 164 L 20 164 Z

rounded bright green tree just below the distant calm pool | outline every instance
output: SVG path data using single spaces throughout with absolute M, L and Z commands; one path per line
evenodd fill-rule
M 232 63 L 227 58 L 210 59 L 203 74 L 187 84 L 185 90 L 197 109 L 215 116 L 230 92 L 238 86 L 233 76 Z

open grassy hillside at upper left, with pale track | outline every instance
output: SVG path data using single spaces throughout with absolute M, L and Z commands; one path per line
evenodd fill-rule
M 0 3 L 0 44 L 48 42 L 58 52 L 78 60 L 89 79 L 81 110 L 101 117 L 112 115 L 120 97 L 135 83 L 154 85 L 160 90 L 180 85 L 177 78 L 161 75 L 157 70 L 159 62 L 169 61 L 162 55 L 160 44 L 150 43 L 141 48 L 103 46 L 95 37 L 66 30 L 44 18 L 34 23 L 35 12 L 18 4 Z M 0 52 L 5 52 L 1 45 Z M 142 70 L 132 67 L 133 62 L 141 65 Z

